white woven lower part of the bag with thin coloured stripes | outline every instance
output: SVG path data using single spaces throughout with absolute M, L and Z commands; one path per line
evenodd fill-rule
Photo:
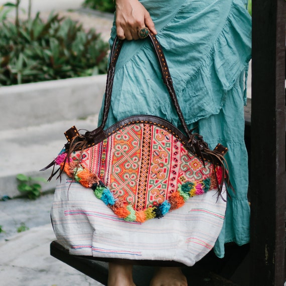
M 126 259 L 175 260 L 193 265 L 206 255 L 222 228 L 226 192 L 190 198 L 161 219 L 144 223 L 118 218 L 91 189 L 66 175 L 59 182 L 51 210 L 58 241 L 71 254 Z

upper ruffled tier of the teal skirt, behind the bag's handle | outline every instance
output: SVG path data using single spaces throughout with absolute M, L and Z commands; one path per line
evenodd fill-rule
M 158 40 L 189 124 L 217 114 L 226 91 L 247 67 L 251 53 L 251 20 L 241 0 L 208 0 L 204 5 L 201 1 L 189 0 L 184 1 L 179 10 L 177 7 L 178 4 L 174 8 L 177 13 L 168 23 L 163 26 L 160 22 L 163 27 Z M 171 9 L 168 10 L 173 11 Z M 164 14 L 164 8 L 162 10 Z M 156 25 L 156 20 L 154 22 Z M 115 33 L 113 28 L 111 43 Z M 124 43 L 116 64 L 107 125 L 132 113 L 158 115 L 179 126 L 161 77 L 149 40 Z M 126 102 L 130 109 L 126 108 Z

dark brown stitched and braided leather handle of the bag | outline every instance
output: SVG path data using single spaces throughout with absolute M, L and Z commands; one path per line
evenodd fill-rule
M 155 52 L 156 52 L 156 55 L 157 55 L 157 58 L 158 58 L 158 61 L 160 64 L 161 72 L 163 75 L 163 82 L 168 89 L 168 92 L 169 92 L 170 97 L 172 99 L 173 105 L 175 106 L 175 109 L 177 111 L 179 119 L 182 123 L 183 129 L 184 129 L 187 137 L 191 138 L 192 130 L 188 129 L 185 118 L 184 118 L 183 113 L 181 111 L 181 108 L 180 108 L 180 105 L 179 105 L 179 102 L 178 102 L 178 99 L 176 96 L 176 92 L 175 92 L 175 89 L 173 86 L 173 80 L 172 80 L 171 75 L 170 75 L 170 71 L 169 71 L 169 68 L 167 65 L 165 55 L 163 53 L 162 46 L 160 45 L 156 36 L 152 32 L 149 33 L 148 38 L 151 40 L 151 43 L 155 49 Z M 117 41 L 118 41 L 118 44 L 116 46 Z M 123 40 L 119 40 L 116 36 L 114 39 L 112 48 L 111 48 L 110 63 L 109 63 L 108 71 L 107 71 L 107 80 L 106 80 L 106 88 L 105 88 L 103 117 L 102 117 L 102 123 L 100 125 L 100 128 L 102 128 L 102 129 L 105 126 L 107 116 L 108 116 L 108 112 L 109 112 L 109 107 L 110 107 L 110 103 L 111 103 L 111 94 L 112 94 L 115 64 L 117 62 L 120 50 L 121 50 L 122 45 L 123 45 L 123 42 L 124 42 Z M 115 46 L 116 46 L 116 48 L 115 48 Z

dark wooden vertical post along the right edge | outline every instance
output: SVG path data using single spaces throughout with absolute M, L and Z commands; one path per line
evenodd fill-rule
M 252 0 L 251 286 L 284 285 L 285 0 Z

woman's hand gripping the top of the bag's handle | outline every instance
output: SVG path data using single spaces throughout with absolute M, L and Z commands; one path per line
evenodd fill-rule
M 119 39 L 137 40 L 138 31 L 147 27 L 155 35 L 149 12 L 138 0 L 116 0 L 116 33 Z

